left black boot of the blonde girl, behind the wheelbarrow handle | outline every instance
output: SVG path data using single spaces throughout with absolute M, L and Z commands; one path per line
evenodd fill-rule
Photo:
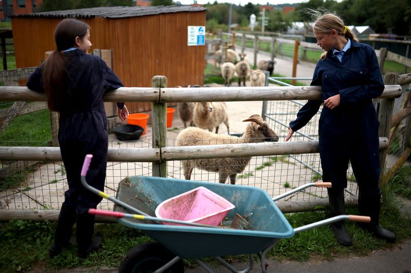
M 328 200 L 330 203 L 331 216 L 339 216 L 345 214 L 345 201 L 344 201 L 344 190 L 327 188 Z M 338 221 L 330 224 L 334 236 L 342 245 L 350 246 L 352 245 L 351 237 L 347 232 L 345 227 L 345 221 Z

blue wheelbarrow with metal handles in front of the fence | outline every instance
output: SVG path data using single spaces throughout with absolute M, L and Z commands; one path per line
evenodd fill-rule
M 206 257 L 216 258 L 232 272 L 249 272 L 254 264 L 254 254 L 258 254 L 261 261 L 261 272 L 267 272 L 266 255 L 282 238 L 290 238 L 304 230 L 340 220 L 370 221 L 370 218 L 365 216 L 340 215 L 292 228 L 273 198 L 260 188 L 150 176 L 123 179 L 119 183 L 116 198 L 113 198 L 87 184 L 85 179 L 89 164 L 87 160 L 86 158 L 81 174 L 84 187 L 115 203 L 114 212 L 94 210 L 92 213 L 116 216 L 118 222 L 140 229 L 157 242 L 130 249 L 121 262 L 119 272 L 184 272 L 181 259 L 195 259 L 208 272 L 213 272 L 205 262 L 200 260 Z M 274 199 L 281 199 L 310 186 L 323 187 L 330 184 L 308 183 Z M 227 214 L 228 221 L 232 221 L 238 214 L 247 218 L 253 228 L 220 228 L 201 224 L 196 226 L 195 223 L 166 225 L 162 224 L 163 219 L 150 216 L 155 215 L 156 207 L 164 200 L 200 186 L 208 188 L 235 205 L 235 208 Z M 124 213 L 127 212 L 137 215 L 127 214 L 133 218 L 129 220 L 124 217 Z M 155 221 L 147 222 L 147 220 Z M 241 271 L 220 258 L 220 256 L 242 254 L 248 254 L 250 261 L 248 267 Z

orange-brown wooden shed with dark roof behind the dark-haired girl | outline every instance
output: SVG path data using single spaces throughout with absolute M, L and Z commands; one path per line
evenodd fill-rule
M 54 28 L 67 17 L 90 25 L 93 49 L 110 49 L 112 69 L 126 87 L 151 87 L 155 75 L 169 87 L 203 82 L 204 46 L 188 46 L 188 26 L 206 25 L 206 8 L 104 7 L 21 14 L 12 17 L 17 68 L 39 66 L 55 50 Z M 151 103 L 127 103 L 130 113 Z M 107 113 L 110 115 L 110 113 Z

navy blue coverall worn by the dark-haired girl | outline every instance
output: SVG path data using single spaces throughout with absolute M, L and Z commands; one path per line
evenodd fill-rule
M 66 69 L 69 79 L 69 96 L 60 111 L 59 119 L 60 151 L 69 186 L 64 202 L 76 206 L 77 213 L 82 214 L 88 208 L 96 208 L 102 200 L 81 184 L 80 173 L 86 154 L 93 155 L 87 182 L 104 191 L 108 127 L 103 95 L 123 84 L 100 57 L 85 54 L 79 49 L 64 54 L 68 56 Z M 29 89 L 44 93 L 42 73 L 43 65 L 30 75 L 27 82 Z M 124 103 L 117 103 L 117 107 L 122 109 Z

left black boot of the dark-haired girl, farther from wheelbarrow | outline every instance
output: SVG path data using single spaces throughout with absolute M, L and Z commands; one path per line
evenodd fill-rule
M 57 227 L 55 228 L 54 243 L 49 249 L 50 258 L 59 255 L 62 248 L 69 245 L 70 237 L 73 233 L 73 225 L 76 222 L 76 218 L 76 206 L 63 203 L 61 205 Z

